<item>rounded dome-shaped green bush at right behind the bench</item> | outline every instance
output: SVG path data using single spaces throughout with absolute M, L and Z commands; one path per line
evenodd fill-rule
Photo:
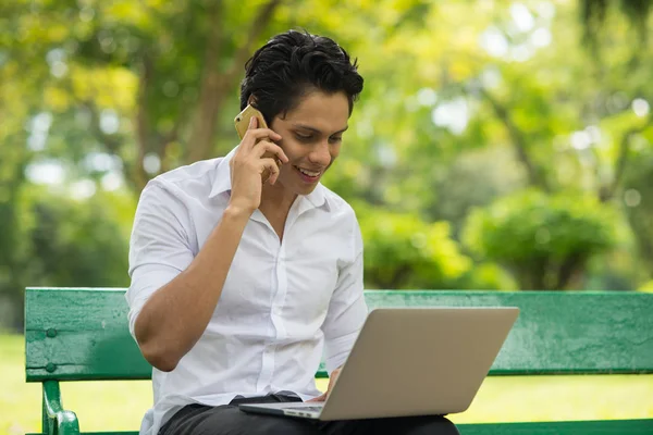
M 475 210 L 465 244 L 510 269 L 521 288 L 563 289 L 592 256 L 614 247 L 616 217 L 587 195 L 527 190 Z

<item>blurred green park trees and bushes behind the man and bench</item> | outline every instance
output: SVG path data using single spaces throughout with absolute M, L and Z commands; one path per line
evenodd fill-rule
M 0 328 L 127 286 L 148 179 L 237 142 L 244 63 L 305 28 L 365 90 L 324 184 L 366 287 L 653 290 L 648 0 L 0 2 Z

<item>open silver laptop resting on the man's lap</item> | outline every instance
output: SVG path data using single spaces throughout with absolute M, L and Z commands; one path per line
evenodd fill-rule
M 463 412 L 518 314 L 516 307 L 375 309 L 326 401 L 239 409 L 321 421 Z

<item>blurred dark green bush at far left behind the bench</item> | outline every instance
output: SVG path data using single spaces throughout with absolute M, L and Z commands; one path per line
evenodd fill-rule
M 26 286 L 128 285 L 127 248 L 135 210 L 131 196 L 99 192 L 75 200 L 36 187 L 22 194 L 13 208 L 20 220 L 7 232 L 20 243 L 13 250 L 3 249 L 0 263 L 0 312 L 22 312 Z M 21 323 L 20 315 L 0 319 L 0 327 L 20 328 Z

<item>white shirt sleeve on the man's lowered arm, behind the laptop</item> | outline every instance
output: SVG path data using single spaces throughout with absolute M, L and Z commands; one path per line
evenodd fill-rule
M 356 217 L 352 236 L 354 260 L 338 271 L 336 287 L 322 324 L 324 360 L 329 373 L 345 363 L 368 314 L 362 284 L 362 237 Z

